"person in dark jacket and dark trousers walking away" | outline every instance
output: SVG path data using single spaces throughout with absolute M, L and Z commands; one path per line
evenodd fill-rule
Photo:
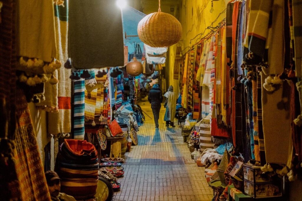
M 149 91 L 148 101 L 151 103 L 151 108 L 154 116 L 155 127 L 158 128 L 159 111 L 162 103 L 162 91 L 158 84 L 153 85 Z

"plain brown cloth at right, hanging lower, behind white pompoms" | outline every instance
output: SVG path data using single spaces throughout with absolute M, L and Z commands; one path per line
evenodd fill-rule
M 260 75 L 263 85 L 267 76 L 263 72 Z M 290 93 L 287 81 L 283 81 L 280 88 L 272 92 L 262 86 L 263 136 L 267 163 L 288 164 L 288 158 L 291 158 Z

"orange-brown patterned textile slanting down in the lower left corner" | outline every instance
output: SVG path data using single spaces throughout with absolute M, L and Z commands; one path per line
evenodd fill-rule
M 8 184 L 12 192 L 10 200 L 50 200 L 44 168 L 23 91 L 16 100 L 16 132 L 14 136 L 14 161 L 9 172 L 16 178 Z

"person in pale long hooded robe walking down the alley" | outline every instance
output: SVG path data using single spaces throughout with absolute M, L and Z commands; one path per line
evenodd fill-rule
M 169 125 L 171 125 L 172 127 L 175 127 L 174 117 L 176 113 L 177 95 L 175 94 L 175 92 L 173 92 L 172 85 L 169 87 L 164 97 L 166 98 L 166 102 L 165 102 L 166 113 L 164 118 L 164 120 L 166 121 L 166 126 L 169 127 Z

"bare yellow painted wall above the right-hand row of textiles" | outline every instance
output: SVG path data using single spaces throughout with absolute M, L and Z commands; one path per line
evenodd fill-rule
M 227 2 L 229 0 L 214 1 L 214 12 L 210 13 L 211 0 L 181 1 L 179 21 L 182 24 L 182 39 L 177 44 L 169 47 L 169 65 L 167 65 L 170 73 L 169 84 L 173 85 L 177 92 L 179 82 L 173 79 L 176 47 L 181 46 L 182 54 L 185 54 L 190 49 L 189 46 L 191 47 L 209 32 L 209 30 L 205 30 L 208 26 L 215 27 L 218 22 L 226 17 Z M 198 34 L 200 35 L 197 36 Z M 193 39 L 194 37 L 195 39 Z

